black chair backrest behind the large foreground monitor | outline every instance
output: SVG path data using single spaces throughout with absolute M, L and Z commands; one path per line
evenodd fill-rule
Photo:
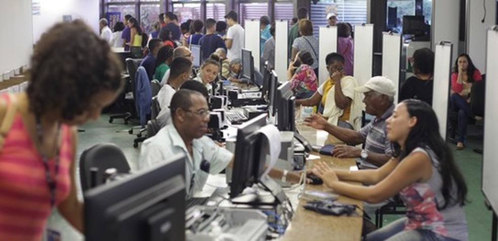
M 93 167 L 98 169 L 97 184 L 104 182 L 103 174 L 109 168 L 116 168 L 118 173 L 128 173 L 131 170 L 125 154 L 115 144 L 96 144 L 85 150 L 79 158 L 79 179 L 83 191 L 92 187 Z

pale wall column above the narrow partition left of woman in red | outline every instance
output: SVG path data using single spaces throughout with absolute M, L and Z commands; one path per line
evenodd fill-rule
M 482 1 L 474 0 L 472 2 L 481 2 L 482 6 Z M 440 41 L 450 41 L 453 43 L 451 63 L 453 63 L 458 56 L 459 10 L 460 4 L 458 4 L 458 1 L 456 0 L 432 1 L 431 49 L 434 50 L 435 44 Z

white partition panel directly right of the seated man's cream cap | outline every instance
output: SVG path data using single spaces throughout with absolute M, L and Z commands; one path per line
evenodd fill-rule
M 401 35 L 393 32 L 384 32 L 382 38 L 382 75 L 392 80 L 396 87 L 394 103 L 398 103 L 400 61 Z

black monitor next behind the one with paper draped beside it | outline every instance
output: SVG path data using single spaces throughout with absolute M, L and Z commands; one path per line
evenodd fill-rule
M 277 127 L 279 130 L 295 131 L 295 102 L 291 82 L 287 81 L 277 88 L 275 104 L 277 106 Z

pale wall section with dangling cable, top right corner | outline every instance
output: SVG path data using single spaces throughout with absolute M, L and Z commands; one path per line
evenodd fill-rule
M 486 18 L 484 19 L 484 23 L 481 22 L 484 16 L 482 1 L 485 1 L 486 4 Z M 467 53 L 470 55 L 476 68 L 484 74 L 486 73 L 486 30 L 489 26 L 494 25 L 496 19 L 496 0 L 473 0 L 467 1 L 467 4 Z

